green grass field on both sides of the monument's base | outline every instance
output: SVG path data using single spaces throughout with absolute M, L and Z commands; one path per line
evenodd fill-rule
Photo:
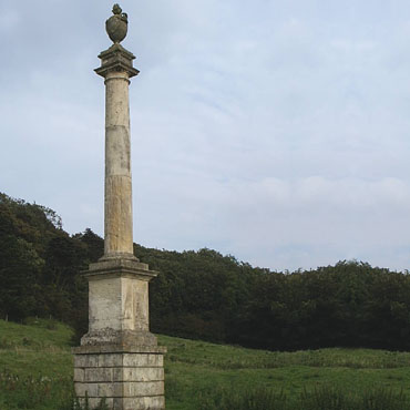
M 68 327 L 50 320 L 31 320 L 29 325 L 0 320 L 0 410 L 70 409 L 71 334 Z M 286 409 L 294 409 L 291 406 L 309 394 L 320 393 L 330 394 L 327 400 L 335 401 L 324 409 L 350 410 L 350 404 L 341 406 L 340 400 L 347 396 L 362 400 L 363 394 L 378 391 L 387 396 L 386 400 L 392 401 L 388 397 L 391 393 L 400 397 L 400 406 L 392 408 L 410 409 L 408 352 L 368 349 L 268 352 L 166 336 L 158 336 L 158 340 L 168 348 L 165 360 L 167 410 L 225 410 L 218 404 L 224 397 L 249 399 L 253 392 L 271 394 L 277 401 L 275 409 L 285 408 L 280 407 L 285 402 Z M 380 403 L 381 399 L 377 401 Z M 226 410 L 242 410 L 239 404 L 235 406 L 237 409 Z M 319 409 L 319 404 L 315 406 Z M 363 404 L 360 409 L 387 409 L 386 404 L 375 406 Z M 244 407 L 259 408 L 270 409 L 257 404 Z

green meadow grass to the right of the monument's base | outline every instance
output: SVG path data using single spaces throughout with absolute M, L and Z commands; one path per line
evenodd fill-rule
M 270 352 L 166 336 L 160 341 L 168 348 L 165 376 L 171 410 L 224 410 L 224 400 L 230 406 L 226 409 L 239 410 L 239 401 L 249 397 L 269 398 L 260 404 L 264 410 L 310 409 L 329 390 L 349 403 L 345 410 L 372 409 L 366 394 L 392 394 L 390 401 L 400 402 L 397 409 L 410 409 L 408 352 L 341 348 Z

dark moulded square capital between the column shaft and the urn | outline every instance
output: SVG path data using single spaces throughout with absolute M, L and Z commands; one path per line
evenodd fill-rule
M 133 66 L 135 55 L 121 44 L 111 45 L 110 49 L 100 53 L 99 59 L 101 59 L 101 66 L 94 71 L 104 79 L 109 72 L 113 71 L 125 71 L 129 74 L 129 79 L 140 73 Z

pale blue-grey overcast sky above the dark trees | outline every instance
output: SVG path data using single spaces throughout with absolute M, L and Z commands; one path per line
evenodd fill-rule
M 408 0 L 123 0 L 134 242 L 410 269 Z M 0 192 L 103 235 L 105 0 L 0 14 Z

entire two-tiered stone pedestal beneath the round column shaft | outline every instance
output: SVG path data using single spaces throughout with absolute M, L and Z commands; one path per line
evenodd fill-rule
M 74 348 L 74 387 L 90 409 L 163 410 L 164 353 L 148 327 L 148 281 L 157 275 L 136 259 L 91 264 L 89 332 Z

